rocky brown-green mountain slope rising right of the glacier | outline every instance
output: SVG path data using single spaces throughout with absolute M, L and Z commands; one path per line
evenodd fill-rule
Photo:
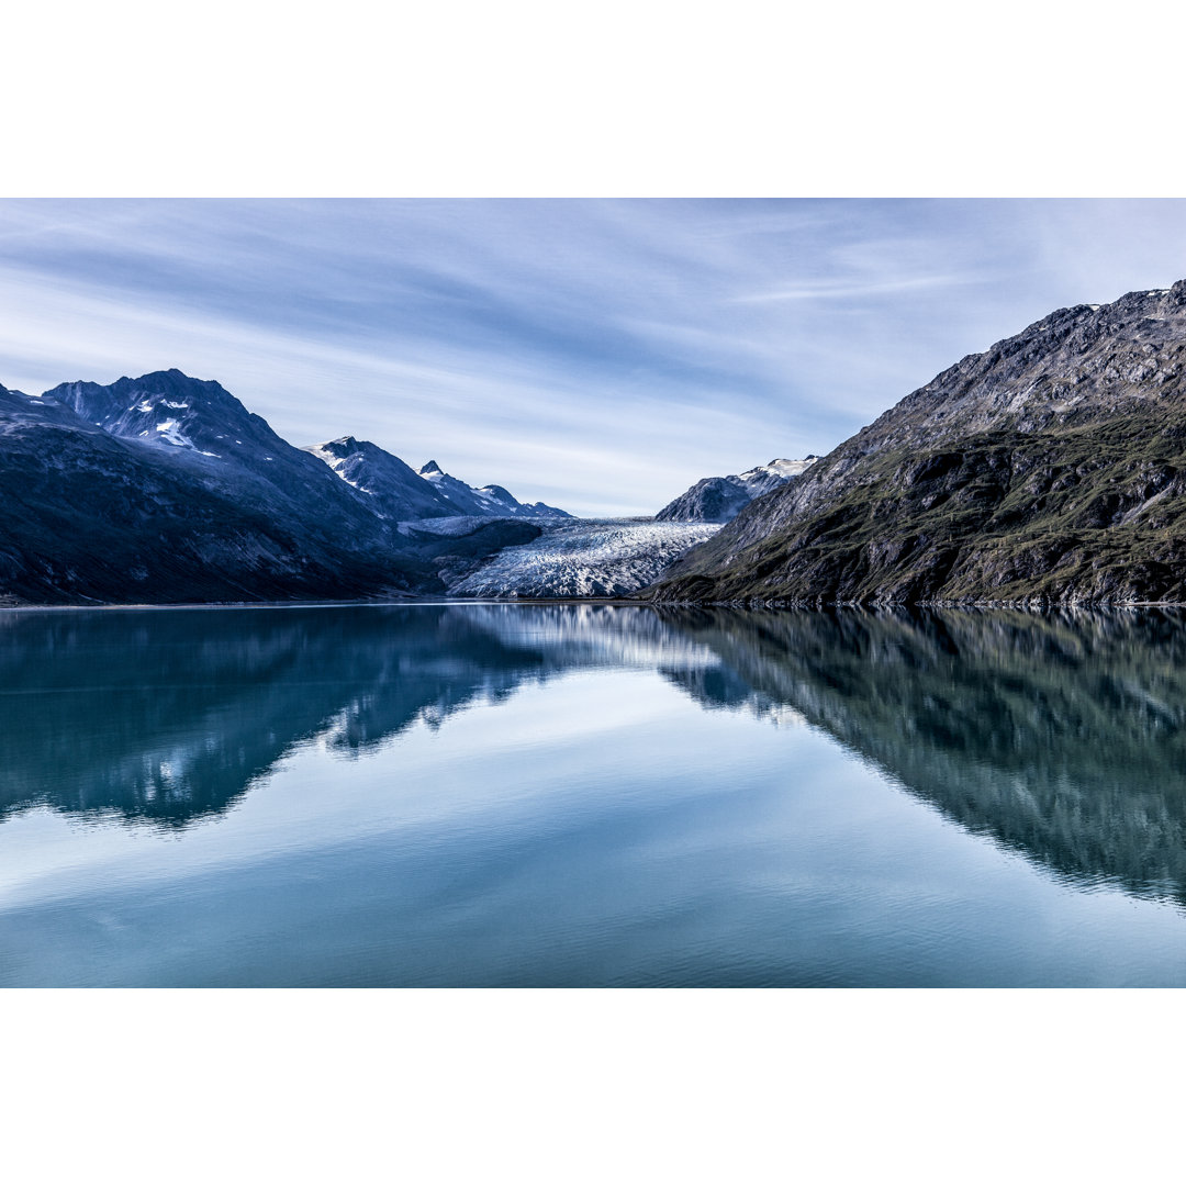
M 661 600 L 1186 600 L 1186 281 L 969 355 L 677 561 Z

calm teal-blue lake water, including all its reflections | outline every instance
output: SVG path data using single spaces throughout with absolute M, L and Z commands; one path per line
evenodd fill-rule
M 0 984 L 1186 983 L 1186 621 L 0 614 Z

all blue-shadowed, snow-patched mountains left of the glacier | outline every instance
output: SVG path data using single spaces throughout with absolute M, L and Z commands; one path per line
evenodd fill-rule
M 296 448 L 178 370 L 0 387 L 0 604 L 441 593 L 565 515 L 449 482 L 352 438 Z M 397 525 L 442 516 L 468 521 Z

